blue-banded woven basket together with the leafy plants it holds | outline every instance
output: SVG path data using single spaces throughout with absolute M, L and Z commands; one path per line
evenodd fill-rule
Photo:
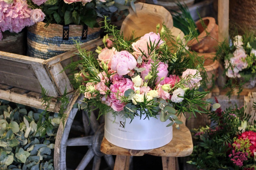
M 79 39 L 83 44 L 98 39 L 102 15 L 127 15 L 134 0 L 28 0 L 28 3 L 46 15 L 43 22 L 28 28 L 28 55 L 47 59 L 73 49 L 71 39 Z

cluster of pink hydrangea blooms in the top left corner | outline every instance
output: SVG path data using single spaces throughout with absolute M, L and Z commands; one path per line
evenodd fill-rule
M 0 0 L 0 40 L 2 32 L 19 33 L 24 27 L 44 20 L 40 9 L 31 9 L 25 0 Z

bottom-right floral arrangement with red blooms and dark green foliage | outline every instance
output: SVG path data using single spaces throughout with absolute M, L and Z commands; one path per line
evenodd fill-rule
M 214 125 L 192 131 L 194 149 L 187 163 L 197 169 L 256 169 L 256 125 L 249 122 L 244 107 L 219 108 L 209 117 Z

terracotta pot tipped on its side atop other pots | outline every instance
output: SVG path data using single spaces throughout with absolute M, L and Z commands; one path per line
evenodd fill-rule
M 200 53 L 210 53 L 215 52 L 215 47 L 218 46 L 218 25 L 215 22 L 213 17 L 205 17 L 202 18 L 205 25 L 207 26 L 207 32 L 210 33 L 207 36 L 200 20 L 196 22 L 197 29 L 199 30 L 200 34 L 198 35 L 198 41 L 196 39 L 191 40 L 188 42 L 191 50 Z

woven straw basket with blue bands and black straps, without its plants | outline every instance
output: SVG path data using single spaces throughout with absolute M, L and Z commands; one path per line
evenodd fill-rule
M 101 21 L 101 18 L 97 20 Z M 87 44 L 100 38 L 100 27 L 88 27 L 87 39 L 81 39 L 83 26 L 69 25 L 69 40 L 63 40 L 63 25 L 50 24 L 44 27 L 44 22 L 38 22 L 28 27 L 27 55 L 41 59 L 49 59 L 75 48 L 72 39 L 79 39 L 82 44 Z

